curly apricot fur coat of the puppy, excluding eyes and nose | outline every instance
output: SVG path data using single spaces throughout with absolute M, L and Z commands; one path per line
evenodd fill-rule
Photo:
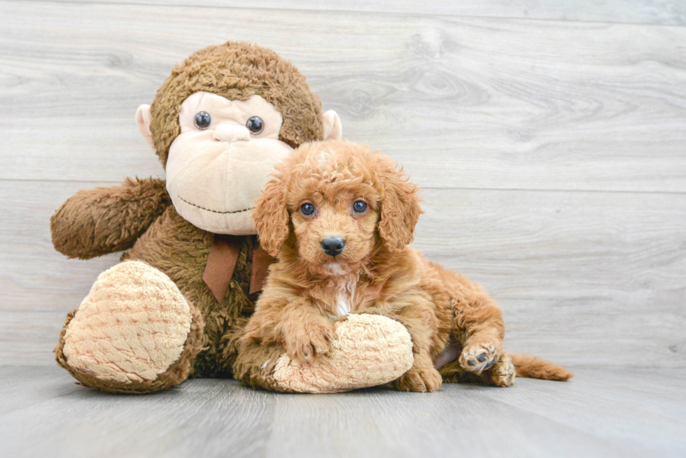
M 364 210 L 356 211 L 360 202 L 357 208 Z M 314 213 L 307 215 L 304 205 Z M 496 303 L 479 285 L 407 246 L 420 214 L 416 187 L 388 157 L 339 141 L 301 146 L 255 208 L 260 241 L 279 262 L 241 351 L 276 346 L 311 362 L 328 352 L 334 320 L 348 312 L 378 313 L 404 324 L 414 344 L 414 365 L 396 388 L 436 391 L 442 378 L 434 361 L 449 338 L 461 350 L 464 371 L 511 385 L 514 368 L 502 354 L 505 324 Z M 323 240 L 332 236 L 344 240 L 335 257 L 323 250 Z M 552 378 L 546 375 L 563 371 L 542 366 L 548 371 L 527 373 Z M 460 378 L 454 366 L 449 375 Z

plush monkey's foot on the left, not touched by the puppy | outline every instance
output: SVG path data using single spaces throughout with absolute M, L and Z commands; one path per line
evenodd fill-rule
M 67 316 L 57 363 L 87 387 L 141 393 L 186 380 L 202 317 L 165 273 L 127 261 L 101 273 Z

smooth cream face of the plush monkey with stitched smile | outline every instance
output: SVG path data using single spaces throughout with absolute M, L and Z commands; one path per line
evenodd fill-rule
M 279 140 L 283 118 L 254 95 L 247 101 L 196 92 L 183 101 L 167 159 L 176 211 L 215 234 L 256 234 L 251 218 L 274 165 L 293 148 Z

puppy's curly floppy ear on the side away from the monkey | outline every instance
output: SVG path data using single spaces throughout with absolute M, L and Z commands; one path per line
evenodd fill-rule
M 414 240 L 414 227 L 423 213 L 419 208 L 419 196 L 416 185 L 407 182 L 395 162 L 386 156 L 374 156 L 377 175 L 384 187 L 379 235 L 388 250 L 398 251 Z

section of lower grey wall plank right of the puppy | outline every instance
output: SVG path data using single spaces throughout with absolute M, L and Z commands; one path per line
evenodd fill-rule
M 686 365 L 681 195 L 423 196 L 414 246 L 491 292 L 510 351 L 576 365 Z

